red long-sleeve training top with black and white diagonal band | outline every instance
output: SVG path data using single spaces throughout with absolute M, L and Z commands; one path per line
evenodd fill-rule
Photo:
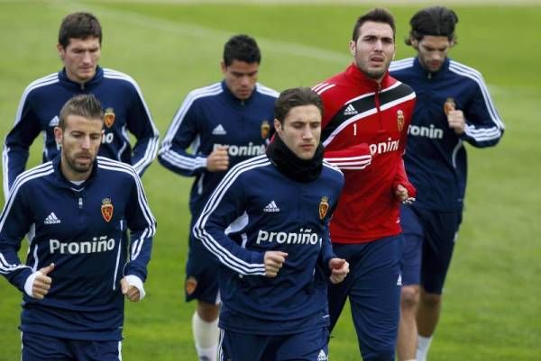
M 408 181 L 402 154 L 415 92 L 386 74 L 381 83 L 354 64 L 314 86 L 324 103 L 321 141 L 325 158 L 344 172 L 345 184 L 331 221 L 335 243 L 366 243 L 401 232 L 397 185 Z

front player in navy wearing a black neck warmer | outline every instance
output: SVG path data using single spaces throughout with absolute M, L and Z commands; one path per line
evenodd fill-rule
M 344 176 L 323 161 L 323 104 L 309 88 L 281 93 L 266 154 L 233 167 L 194 227 L 220 260 L 220 360 L 326 360 L 326 279 L 341 282 L 328 221 Z

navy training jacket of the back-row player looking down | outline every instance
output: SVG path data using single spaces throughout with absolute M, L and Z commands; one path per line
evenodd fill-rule
M 250 98 L 240 100 L 222 81 L 186 96 L 161 142 L 158 160 L 180 176 L 195 176 L 189 199 L 194 217 L 225 176 L 225 172 L 207 171 L 206 157 L 227 146 L 229 167 L 233 167 L 263 154 L 273 131 L 278 95 L 257 84 Z

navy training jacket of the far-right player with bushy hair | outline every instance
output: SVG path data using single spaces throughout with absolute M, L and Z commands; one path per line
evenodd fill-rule
M 413 206 L 442 212 L 462 210 L 467 177 L 464 141 L 477 148 L 491 147 L 504 131 L 481 73 L 451 59 L 430 73 L 418 58 L 396 61 L 390 72 L 417 94 L 404 157 L 408 177 L 418 191 Z M 444 112 L 448 99 L 464 113 L 462 135 L 449 128 Z

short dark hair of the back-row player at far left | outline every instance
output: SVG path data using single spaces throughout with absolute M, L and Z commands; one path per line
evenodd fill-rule
M 59 31 L 59 44 L 62 48 L 68 47 L 69 39 L 87 39 L 89 37 L 99 39 L 101 45 L 101 25 L 93 14 L 73 13 L 62 20 Z

